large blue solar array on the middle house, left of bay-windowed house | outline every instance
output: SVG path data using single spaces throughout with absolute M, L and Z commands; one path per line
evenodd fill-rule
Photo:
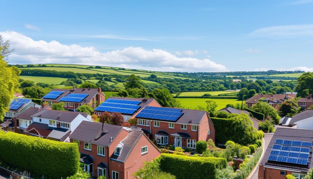
M 96 107 L 96 111 L 119 112 L 123 114 L 134 114 L 141 106 L 141 101 L 107 99 Z

